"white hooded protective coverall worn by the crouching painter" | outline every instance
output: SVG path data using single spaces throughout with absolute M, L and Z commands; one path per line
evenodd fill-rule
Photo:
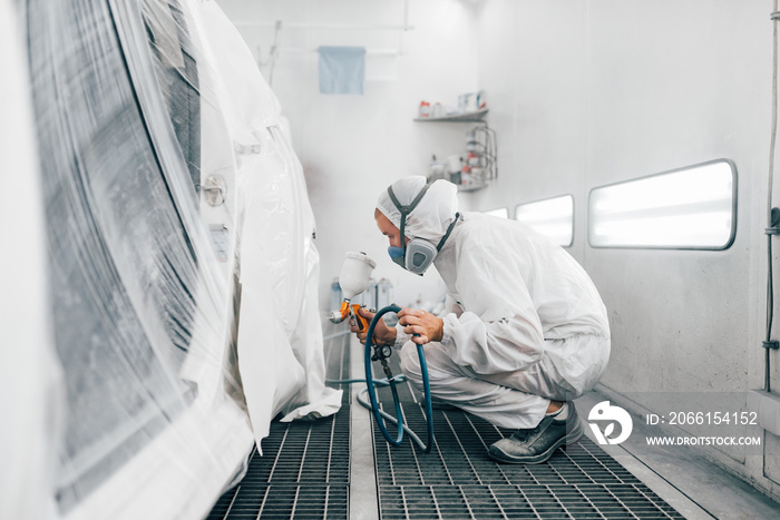
M 401 205 L 426 183 L 392 185 Z M 400 228 L 387 192 L 379 210 Z M 437 180 L 407 216 L 406 235 L 433 244 L 458 210 Z M 503 428 L 534 428 L 550 400 L 592 390 L 610 359 L 606 308 L 582 266 L 523 223 L 462 214 L 433 264 L 447 286 L 441 342 L 425 347 L 431 394 Z M 401 370 L 422 387 L 417 347 L 399 326 Z

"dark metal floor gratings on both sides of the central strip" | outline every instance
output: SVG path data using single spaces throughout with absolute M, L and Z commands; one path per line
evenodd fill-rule
M 344 379 L 349 341 L 338 343 L 343 345 L 330 349 L 328 373 Z M 393 372 L 400 373 L 397 360 Z M 246 475 L 208 519 L 349 518 L 348 394 L 333 418 L 272 423 L 263 457 L 253 451 Z M 379 389 L 379 395 L 392 406 L 388 389 Z M 401 384 L 399 395 L 410 426 L 425 438 L 419 392 Z M 508 431 L 457 410 L 435 410 L 433 423 L 436 442 L 426 454 L 408 440 L 391 448 L 372 422 L 382 519 L 683 518 L 586 438 L 544 464 L 497 464 L 487 447 Z

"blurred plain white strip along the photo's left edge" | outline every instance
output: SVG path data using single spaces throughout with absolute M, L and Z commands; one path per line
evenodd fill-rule
M 0 518 L 56 514 L 59 366 L 48 310 L 43 202 L 27 62 L 11 0 L 0 0 Z

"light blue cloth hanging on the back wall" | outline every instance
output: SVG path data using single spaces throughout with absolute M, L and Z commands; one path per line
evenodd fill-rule
M 320 47 L 320 94 L 363 95 L 364 47 Z

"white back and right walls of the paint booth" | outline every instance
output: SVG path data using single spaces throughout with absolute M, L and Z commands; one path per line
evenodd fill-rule
M 762 387 L 771 1 L 412 1 L 408 31 L 368 29 L 402 26 L 400 1 L 221 4 L 262 58 L 275 20 L 304 26 L 282 26 L 273 89 L 290 117 L 323 238 L 322 305 L 342 252 L 352 249 L 378 259 L 376 273 L 392 281 L 399 304 L 418 294 L 431 300 L 437 286 L 425 278 L 433 273 L 420 286 L 387 258 L 373 204 L 397 178 L 425 175 L 432 154 L 459 153 L 474 126 L 415 122 L 420 100 L 454 102 L 481 89 L 498 136 L 500 174 L 490 187 L 461 194 L 461 208 L 506 207 L 513 215 L 520 203 L 574 197 L 568 251 L 596 283 L 611 317 L 603 386 L 638 401 L 661 389 Z M 364 96 L 323 96 L 316 53 L 295 51 L 320 45 L 401 55 L 367 56 Z M 733 160 L 739 178 L 730 248 L 588 245 L 592 188 L 719 158 Z M 773 195 L 777 200 L 777 187 Z M 771 376 L 780 376 L 777 362 Z M 634 403 L 642 406 L 651 404 Z M 767 453 L 777 451 L 780 438 L 755 432 L 766 434 Z M 714 449 L 706 455 L 778 496 L 777 458 L 734 460 Z

